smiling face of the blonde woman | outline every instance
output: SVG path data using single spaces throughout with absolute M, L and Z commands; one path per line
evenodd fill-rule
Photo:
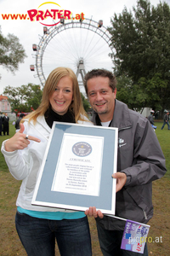
M 63 77 L 56 85 L 54 93 L 49 98 L 55 113 L 63 115 L 67 112 L 73 100 L 73 85 L 70 77 Z

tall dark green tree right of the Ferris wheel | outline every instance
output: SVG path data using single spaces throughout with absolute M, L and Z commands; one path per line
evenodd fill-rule
M 137 8 L 111 19 L 114 72 L 129 79 L 133 108 L 168 108 L 170 102 L 170 8 L 167 3 L 150 6 L 139 0 Z M 128 86 L 127 86 L 128 85 Z M 143 97 L 143 99 L 142 99 Z M 138 99 L 138 100 L 137 100 Z M 132 98 L 127 99 L 131 105 Z M 169 105 L 168 105 L 169 106 Z

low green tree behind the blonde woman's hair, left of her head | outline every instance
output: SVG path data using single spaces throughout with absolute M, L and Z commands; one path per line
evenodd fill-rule
M 18 109 L 18 112 L 31 112 L 37 109 L 42 100 L 42 90 L 40 85 L 28 84 L 20 87 L 6 86 L 3 94 L 8 96 L 12 111 Z

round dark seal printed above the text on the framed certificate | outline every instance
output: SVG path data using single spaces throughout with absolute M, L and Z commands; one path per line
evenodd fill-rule
M 77 156 L 87 156 L 92 152 L 92 147 L 88 143 L 76 143 L 72 146 L 72 152 Z

